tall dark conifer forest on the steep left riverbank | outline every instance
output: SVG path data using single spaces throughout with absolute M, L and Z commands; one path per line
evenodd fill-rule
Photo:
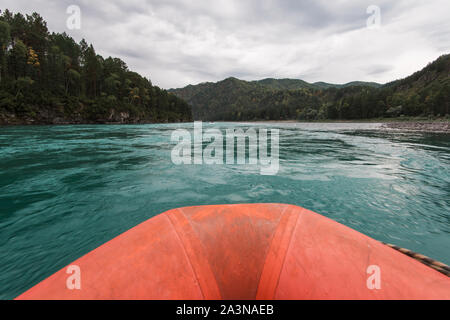
M 50 33 L 37 13 L 0 11 L 0 124 L 192 120 L 190 106 L 104 58 L 84 39 Z

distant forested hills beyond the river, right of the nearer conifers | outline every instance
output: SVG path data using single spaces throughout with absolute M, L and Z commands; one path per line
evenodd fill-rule
M 228 78 L 171 90 L 193 107 L 201 120 L 326 120 L 450 114 L 450 55 L 412 76 L 379 85 L 345 85 L 302 80 L 247 82 Z

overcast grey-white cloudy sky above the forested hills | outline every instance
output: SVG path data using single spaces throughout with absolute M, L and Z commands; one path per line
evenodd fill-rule
M 69 5 L 81 9 L 79 30 L 67 27 Z M 370 5 L 379 28 L 367 27 Z M 385 83 L 450 53 L 449 0 L 2 0 L 5 8 L 40 13 L 50 31 L 85 38 L 163 88 L 230 76 Z

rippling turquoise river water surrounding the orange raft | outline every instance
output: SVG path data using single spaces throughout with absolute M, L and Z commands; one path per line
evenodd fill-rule
M 289 203 L 450 264 L 450 136 L 379 124 L 280 130 L 278 174 L 171 161 L 193 124 L 0 128 L 0 299 L 171 208 Z

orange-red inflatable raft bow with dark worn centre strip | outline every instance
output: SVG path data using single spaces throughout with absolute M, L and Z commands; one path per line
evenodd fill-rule
M 156 216 L 18 299 L 450 299 L 450 278 L 300 207 L 204 206 Z

